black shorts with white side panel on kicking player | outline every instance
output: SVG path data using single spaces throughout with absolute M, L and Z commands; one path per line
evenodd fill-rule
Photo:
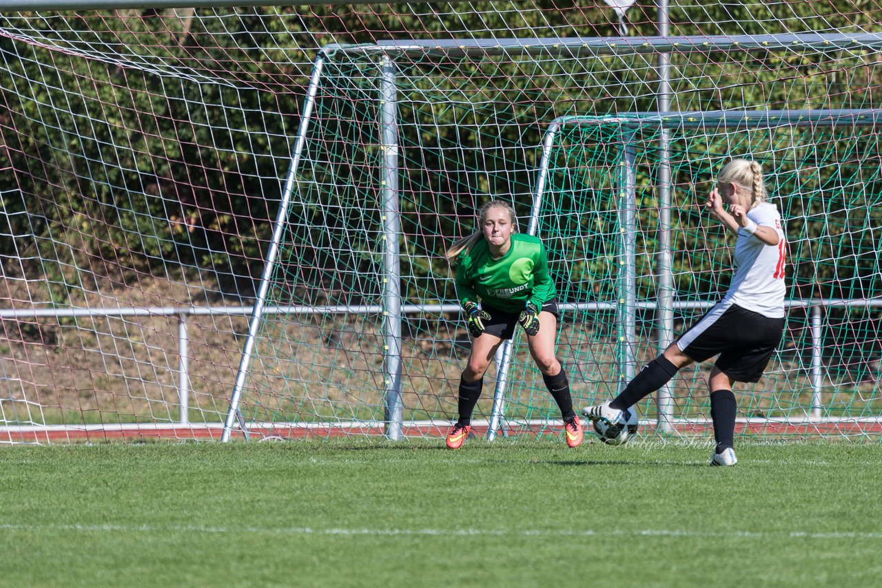
M 775 347 L 781 343 L 784 317 L 770 318 L 720 302 L 676 340 L 692 361 L 720 354 L 716 367 L 736 382 L 759 382 Z

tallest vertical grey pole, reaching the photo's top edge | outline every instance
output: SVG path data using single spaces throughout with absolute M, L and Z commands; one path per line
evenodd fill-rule
M 669 13 L 668 0 L 658 0 L 659 34 L 668 36 Z M 660 115 L 670 110 L 670 54 L 660 53 L 658 63 L 659 89 L 658 110 Z M 671 252 L 671 169 L 670 169 L 670 131 L 667 127 L 659 128 L 659 227 L 658 242 L 659 250 L 656 257 L 658 264 L 658 299 L 659 306 L 656 314 L 658 329 L 659 353 L 662 353 L 674 340 L 674 272 L 673 254 Z M 670 419 L 674 413 L 674 401 L 671 394 L 670 383 L 665 384 L 655 393 L 655 402 L 658 413 L 656 421 L 658 428 L 664 433 L 672 432 Z

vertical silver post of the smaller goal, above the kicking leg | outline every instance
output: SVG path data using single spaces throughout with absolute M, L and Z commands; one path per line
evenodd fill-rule
M 622 131 L 618 186 L 618 391 L 637 373 L 637 176 L 633 131 Z

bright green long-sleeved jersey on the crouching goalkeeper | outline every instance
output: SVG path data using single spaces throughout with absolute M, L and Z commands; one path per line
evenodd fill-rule
M 461 304 L 480 301 L 482 306 L 504 312 L 520 312 L 527 301 L 541 309 L 555 295 L 542 241 L 520 233 L 512 234 L 512 246 L 498 259 L 490 257 L 486 239 L 460 253 L 456 290 Z

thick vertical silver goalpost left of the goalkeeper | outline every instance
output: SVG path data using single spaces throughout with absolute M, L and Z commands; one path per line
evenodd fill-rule
M 385 355 L 386 436 L 398 441 L 403 436 L 401 409 L 401 270 L 399 255 L 400 220 L 398 207 L 398 93 L 395 63 L 380 60 L 382 120 L 380 141 L 383 150 L 383 255 L 385 288 L 383 293 L 383 351 Z

